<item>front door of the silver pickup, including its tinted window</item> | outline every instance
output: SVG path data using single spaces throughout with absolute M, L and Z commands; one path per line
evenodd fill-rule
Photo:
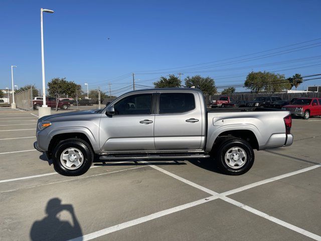
M 99 144 L 103 152 L 154 151 L 152 93 L 131 94 L 114 104 L 115 114 L 102 114 Z

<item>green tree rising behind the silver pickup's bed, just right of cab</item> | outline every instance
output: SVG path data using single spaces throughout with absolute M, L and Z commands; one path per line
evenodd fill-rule
M 185 86 L 198 88 L 203 91 L 205 95 L 215 94 L 217 92 L 215 81 L 211 77 L 201 77 L 200 75 L 187 76 L 185 78 Z

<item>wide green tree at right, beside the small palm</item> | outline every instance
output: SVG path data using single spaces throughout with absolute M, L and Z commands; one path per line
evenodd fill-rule
M 251 89 L 251 92 L 281 92 L 290 88 L 290 83 L 285 79 L 284 74 L 275 74 L 271 72 L 251 72 L 246 76 L 244 86 Z

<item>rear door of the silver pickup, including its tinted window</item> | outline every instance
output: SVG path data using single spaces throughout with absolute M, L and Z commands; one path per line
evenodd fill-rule
M 196 92 L 161 92 L 155 113 L 156 150 L 198 150 L 202 108 Z

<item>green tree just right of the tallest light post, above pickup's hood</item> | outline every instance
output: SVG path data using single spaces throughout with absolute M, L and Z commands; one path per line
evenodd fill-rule
M 76 96 L 78 85 L 73 81 L 67 81 L 66 78 L 53 78 L 48 83 L 48 93 L 56 97 L 56 111 L 58 110 L 59 98 L 62 94 Z

